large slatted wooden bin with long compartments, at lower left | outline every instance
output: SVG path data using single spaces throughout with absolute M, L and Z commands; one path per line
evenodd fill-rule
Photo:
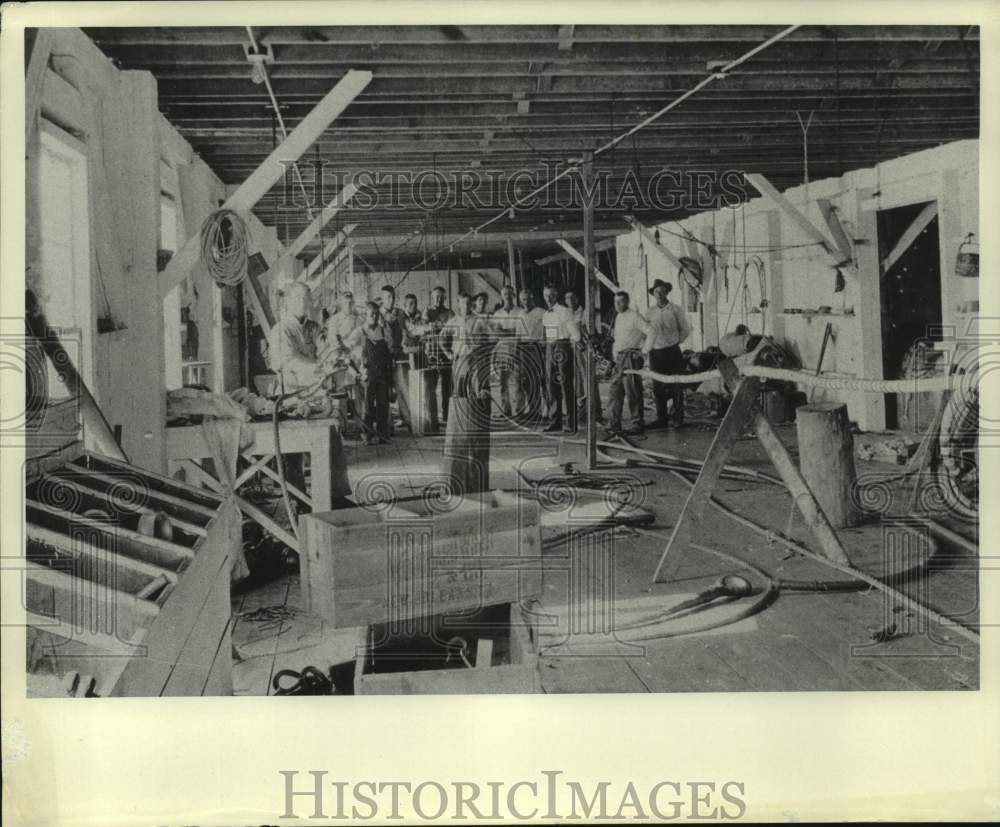
M 92 676 L 102 696 L 232 693 L 235 505 L 94 454 L 25 493 L 29 673 Z M 144 533 L 156 514 L 171 539 Z

